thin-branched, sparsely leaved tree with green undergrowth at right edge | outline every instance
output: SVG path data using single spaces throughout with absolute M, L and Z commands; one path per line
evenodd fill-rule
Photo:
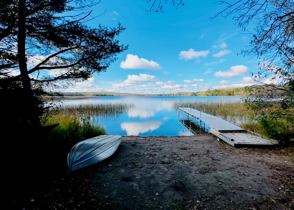
M 286 132 L 293 138 L 294 1 L 239 0 L 218 1 L 217 4 L 223 6 L 223 10 L 213 18 L 233 17 L 242 31 L 249 31 L 251 41 L 241 54 L 260 61 L 259 69 L 250 75 L 262 85 L 250 89 L 260 96 L 246 101 L 270 130 L 280 126 L 275 134 Z M 252 31 L 249 25 L 254 26 Z M 266 83 L 265 79 L 268 79 Z

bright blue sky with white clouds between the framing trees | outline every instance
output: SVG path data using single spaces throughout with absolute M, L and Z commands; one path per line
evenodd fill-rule
M 100 16 L 87 25 L 120 22 L 126 30 L 116 39 L 128 50 L 106 72 L 61 91 L 159 94 L 252 85 L 258 59 L 240 55 L 250 35 L 232 17 L 211 20 L 224 9 L 215 2 L 185 1 L 178 9 L 163 2 L 164 13 L 152 14 L 146 13 L 146 1 L 101 2 L 92 8 L 92 16 Z

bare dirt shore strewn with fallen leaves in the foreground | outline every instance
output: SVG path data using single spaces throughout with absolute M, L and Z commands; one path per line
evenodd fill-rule
M 123 136 L 113 156 L 52 178 L 25 209 L 294 209 L 293 154 L 276 151 L 211 134 Z

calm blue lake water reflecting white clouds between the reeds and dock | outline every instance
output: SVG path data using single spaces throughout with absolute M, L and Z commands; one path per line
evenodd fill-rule
M 61 100 L 64 107 L 77 105 L 126 104 L 127 109 L 115 115 L 93 114 L 91 122 L 106 128 L 108 134 L 127 136 L 190 136 L 178 120 L 178 107 L 198 109 L 200 102 L 221 104 L 241 101 L 240 97 L 222 96 L 89 96 Z M 216 105 L 217 106 L 217 105 Z M 203 109 L 203 106 L 202 106 Z M 220 106 L 221 112 L 221 106 Z M 181 118 L 181 116 L 180 116 Z

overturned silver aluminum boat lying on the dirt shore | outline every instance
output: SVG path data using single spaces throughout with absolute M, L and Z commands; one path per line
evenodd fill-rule
M 121 136 L 101 135 L 77 143 L 68 154 L 68 172 L 111 156 L 121 144 Z

